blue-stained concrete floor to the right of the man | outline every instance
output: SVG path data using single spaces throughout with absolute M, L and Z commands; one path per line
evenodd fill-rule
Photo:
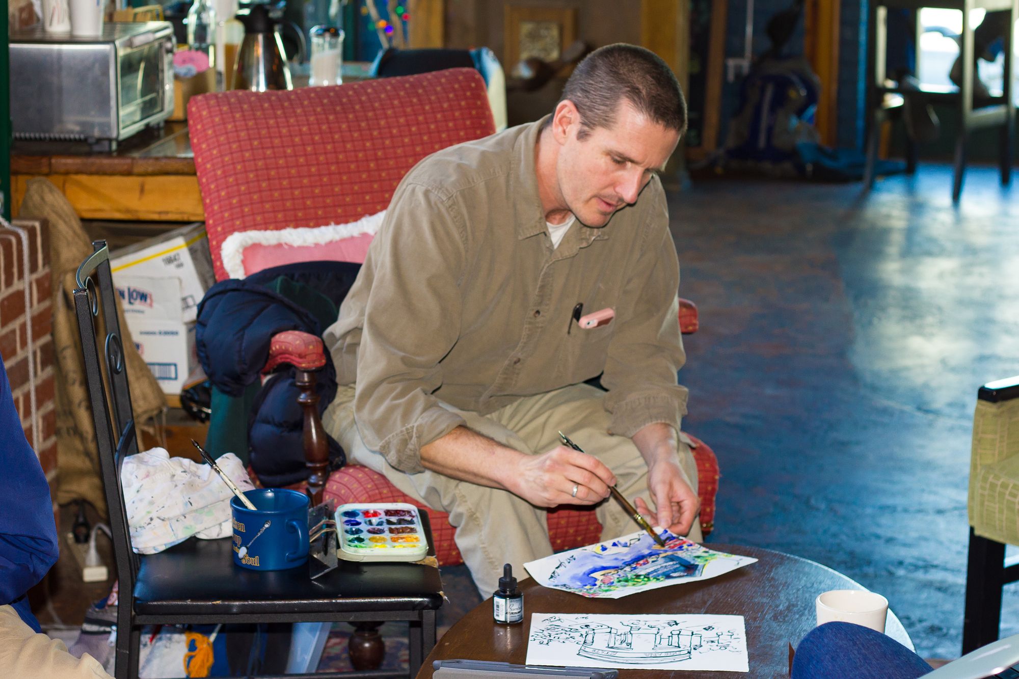
M 926 165 L 869 196 L 722 178 L 669 206 L 702 328 L 684 428 L 722 473 L 710 539 L 883 593 L 927 658 L 960 652 L 976 389 L 1019 373 L 1019 199 L 984 167 L 950 192 Z M 1007 593 L 1003 634 L 1017 614 Z

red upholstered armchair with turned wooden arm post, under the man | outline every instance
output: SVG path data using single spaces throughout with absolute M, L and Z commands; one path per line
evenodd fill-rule
M 396 185 L 419 160 L 494 132 L 485 85 L 468 68 L 291 92 L 225 92 L 187 106 L 206 228 L 217 279 L 227 277 L 220 249 L 231 233 L 351 222 L 384 210 Z M 684 302 L 684 332 L 697 329 L 697 309 Z M 325 436 L 316 410 L 315 371 L 324 365 L 319 337 L 283 332 L 266 369 L 294 365 L 305 407 L 305 453 L 316 500 L 411 502 L 385 478 L 347 465 L 326 478 Z M 696 441 L 696 439 L 695 439 Z M 701 523 L 711 530 L 718 465 L 696 441 Z M 556 550 L 597 541 L 590 511 L 549 513 Z M 432 512 L 439 563 L 460 564 L 448 516 Z

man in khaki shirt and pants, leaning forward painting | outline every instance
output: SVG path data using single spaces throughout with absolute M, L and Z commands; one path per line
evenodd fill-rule
M 603 538 L 700 540 L 679 264 L 656 176 L 686 128 L 675 75 L 631 45 L 577 66 L 543 119 L 439 151 L 396 189 L 339 319 L 327 431 L 449 514 L 479 590 L 551 554 L 546 510 L 596 506 Z M 579 322 L 612 310 L 595 327 Z M 601 375 L 607 393 L 585 384 Z M 590 455 L 559 445 L 562 430 Z

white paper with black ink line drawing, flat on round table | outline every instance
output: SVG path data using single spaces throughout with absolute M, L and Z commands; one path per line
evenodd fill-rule
M 528 665 L 749 672 L 743 616 L 531 615 Z

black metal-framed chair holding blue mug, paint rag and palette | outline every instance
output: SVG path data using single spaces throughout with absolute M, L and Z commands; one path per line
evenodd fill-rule
M 131 550 L 120 469 L 125 457 L 138 453 L 138 438 L 109 252 L 104 241 L 94 242 L 93 248 L 92 256 L 78 266 L 73 296 L 119 580 L 117 679 L 138 677 L 143 625 L 387 620 L 410 623 L 413 678 L 435 645 L 435 612 L 442 604 L 442 582 L 433 566 L 340 561 L 336 569 L 313 580 L 309 566 L 282 571 L 235 566 L 229 537 L 190 538 L 150 556 Z M 102 343 L 99 337 L 103 337 Z M 428 529 L 429 554 L 434 555 L 427 513 L 421 516 Z M 394 670 L 367 670 L 285 676 L 359 679 L 405 675 Z

